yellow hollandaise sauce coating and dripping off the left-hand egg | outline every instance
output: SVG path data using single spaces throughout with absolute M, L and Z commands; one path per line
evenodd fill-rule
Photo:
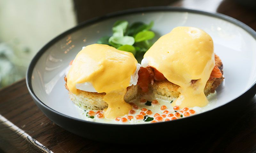
M 68 89 L 78 94 L 76 84 L 90 82 L 98 93 L 106 93 L 105 118 L 123 116 L 132 109 L 124 101 L 124 95 L 137 63 L 132 53 L 102 44 L 86 46 L 76 55 L 68 72 Z

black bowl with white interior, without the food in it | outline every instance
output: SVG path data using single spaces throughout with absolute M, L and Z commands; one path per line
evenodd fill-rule
M 65 68 L 83 46 L 111 35 L 113 23 L 120 19 L 130 23 L 149 23 L 153 20 L 155 25 L 152 30 L 158 38 L 176 26 L 194 26 L 209 33 L 215 53 L 222 59 L 225 75 L 225 81 L 217 90 L 214 109 L 179 120 L 152 124 L 119 125 L 83 120 L 64 87 Z M 220 122 L 224 113 L 227 116 L 227 112 L 237 110 L 255 95 L 255 39 L 256 32 L 250 27 L 222 14 L 172 7 L 121 11 L 88 20 L 51 40 L 31 61 L 26 81 L 29 93 L 44 114 L 76 135 L 118 143 L 140 142 L 138 135 L 152 141 L 175 138 Z M 163 131 L 164 136 L 161 135 Z

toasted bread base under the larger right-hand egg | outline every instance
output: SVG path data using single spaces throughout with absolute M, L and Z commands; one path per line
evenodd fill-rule
M 223 65 L 219 56 L 215 55 L 215 64 L 220 69 L 223 74 Z M 220 78 L 210 78 L 204 88 L 204 94 L 207 96 L 210 93 L 214 93 L 216 88 L 221 84 L 224 77 Z M 193 83 L 192 83 L 193 84 Z M 178 91 L 180 86 L 169 82 L 168 80 L 164 81 L 154 81 L 154 84 L 150 87 L 151 93 L 153 93 L 154 98 L 159 98 L 163 100 L 172 100 L 178 98 L 180 92 Z

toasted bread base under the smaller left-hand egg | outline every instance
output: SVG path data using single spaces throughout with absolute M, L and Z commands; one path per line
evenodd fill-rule
M 67 86 L 67 77 L 65 79 L 65 87 L 68 90 Z M 69 90 L 68 90 L 69 91 Z M 78 106 L 82 107 L 83 109 L 90 109 L 90 110 L 101 110 L 108 107 L 108 103 L 103 100 L 104 95 L 106 93 L 97 93 L 97 92 L 87 92 L 78 90 L 79 94 L 73 94 L 72 92 L 68 92 L 69 98 Z M 127 92 L 124 95 L 124 101 L 130 102 L 131 100 L 137 98 L 138 95 L 138 87 L 137 86 L 130 86 L 127 87 Z

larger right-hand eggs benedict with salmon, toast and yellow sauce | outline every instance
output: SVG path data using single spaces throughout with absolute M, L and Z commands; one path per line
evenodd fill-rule
M 141 75 L 149 76 L 138 83 L 142 91 L 151 84 L 156 98 L 177 98 L 172 106 L 204 107 L 206 96 L 223 81 L 222 62 L 214 55 L 212 38 L 194 27 L 176 27 L 159 38 L 141 64 L 148 70 Z

